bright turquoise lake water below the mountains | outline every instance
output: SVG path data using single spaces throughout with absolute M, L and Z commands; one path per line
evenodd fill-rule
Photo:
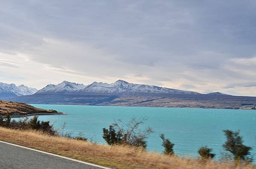
M 142 127 L 154 130 L 148 141 L 149 151 L 163 151 L 159 135 L 163 133 L 175 144 L 178 155 L 197 156 L 200 146 L 209 146 L 217 158 L 223 152 L 225 137 L 222 130 L 240 130 L 244 144 L 253 147 L 256 155 L 256 111 L 224 109 L 192 109 L 164 107 L 111 107 L 77 105 L 41 105 L 33 106 L 53 109 L 68 115 L 43 115 L 40 120 L 54 122 L 60 128 L 67 122 L 65 131 L 93 138 L 97 143 L 105 144 L 102 128 L 112 124 L 114 119 L 128 122 L 132 117 L 146 117 L 148 121 Z

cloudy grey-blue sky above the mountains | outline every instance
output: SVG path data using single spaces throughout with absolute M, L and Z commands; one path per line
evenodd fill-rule
M 256 96 L 255 0 L 2 0 L 0 82 Z

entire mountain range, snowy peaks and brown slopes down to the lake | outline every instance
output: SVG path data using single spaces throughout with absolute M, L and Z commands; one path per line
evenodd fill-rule
M 101 106 L 189 107 L 255 109 L 256 97 L 232 96 L 220 92 L 193 91 L 141 85 L 117 80 L 111 84 L 90 85 L 63 81 L 36 90 L 24 85 L 0 83 L 0 99 L 28 104 L 75 104 Z

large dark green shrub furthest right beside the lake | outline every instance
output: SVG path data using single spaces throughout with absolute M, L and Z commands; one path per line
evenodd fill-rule
M 227 141 L 222 146 L 226 151 L 233 155 L 234 161 L 252 161 L 252 159 L 248 157 L 252 148 L 243 144 L 242 137 L 239 135 L 239 130 L 235 132 L 231 130 L 223 130 L 223 132 L 227 137 Z

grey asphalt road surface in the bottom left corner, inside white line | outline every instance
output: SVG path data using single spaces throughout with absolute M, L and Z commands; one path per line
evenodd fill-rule
M 0 169 L 101 169 L 0 142 Z

